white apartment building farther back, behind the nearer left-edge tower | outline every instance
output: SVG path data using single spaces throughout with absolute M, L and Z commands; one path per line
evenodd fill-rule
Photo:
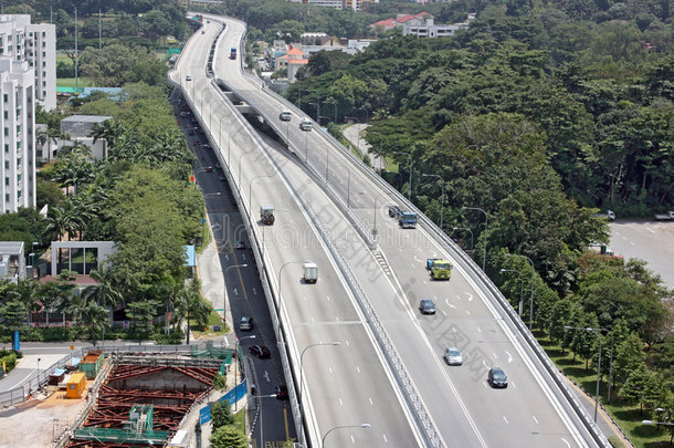
M 35 98 L 56 107 L 56 27 L 31 23 L 28 14 L 0 14 L 0 58 L 27 61 L 34 69 Z

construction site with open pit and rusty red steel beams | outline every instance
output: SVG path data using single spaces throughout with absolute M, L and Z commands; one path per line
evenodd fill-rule
M 183 353 L 89 351 L 76 367 L 54 371 L 44 397 L 33 400 L 40 402 L 35 410 L 41 405 L 77 406 L 76 416 L 65 425 L 56 426 L 59 418 L 49 417 L 50 446 L 55 448 L 188 447 L 193 446 L 204 414 L 210 418 L 209 402 L 227 399 L 213 390 L 213 381 L 227 375 L 231 362 L 231 350 L 212 346 Z M 19 414 L 30 415 L 15 417 Z M 59 417 L 65 421 L 64 414 Z

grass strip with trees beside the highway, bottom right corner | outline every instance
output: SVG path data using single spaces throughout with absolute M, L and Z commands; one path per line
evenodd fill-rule
M 590 396 L 597 392 L 597 367 L 590 363 L 585 368 L 585 360 L 576 357 L 568 350 L 562 354 L 558 344 L 551 343 L 547 337 L 538 337 L 538 342 L 547 352 L 550 360 L 565 375 L 579 384 Z M 621 403 L 615 389 L 611 390 L 611 404 L 607 404 L 608 383 L 602 382 L 599 387 L 599 403 L 609 411 L 611 417 L 628 435 L 636 448 L 660 448 L 670 446 L 670 433 L 656 426 L 642 425 L 641 420 L 651 419 L 647 413 L 640 413 L 639 406 L 630 406 Z

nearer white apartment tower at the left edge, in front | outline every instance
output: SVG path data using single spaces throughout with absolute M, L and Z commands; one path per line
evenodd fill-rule
M 35 207 L 34 70 L 0 58 L 0 213 Z

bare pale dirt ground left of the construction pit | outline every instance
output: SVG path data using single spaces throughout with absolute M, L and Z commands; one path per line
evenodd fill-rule
M 87 381 L 87 389 L 93 382 Z M 48 396 L 49 395 L 49 396 Z M 0 448 L 50 447 L 77 417 L 86 404 L 85 390 L 80 399 L 65 398 L 65 389 L 49 386 L 45 395 L 0 413 Z

